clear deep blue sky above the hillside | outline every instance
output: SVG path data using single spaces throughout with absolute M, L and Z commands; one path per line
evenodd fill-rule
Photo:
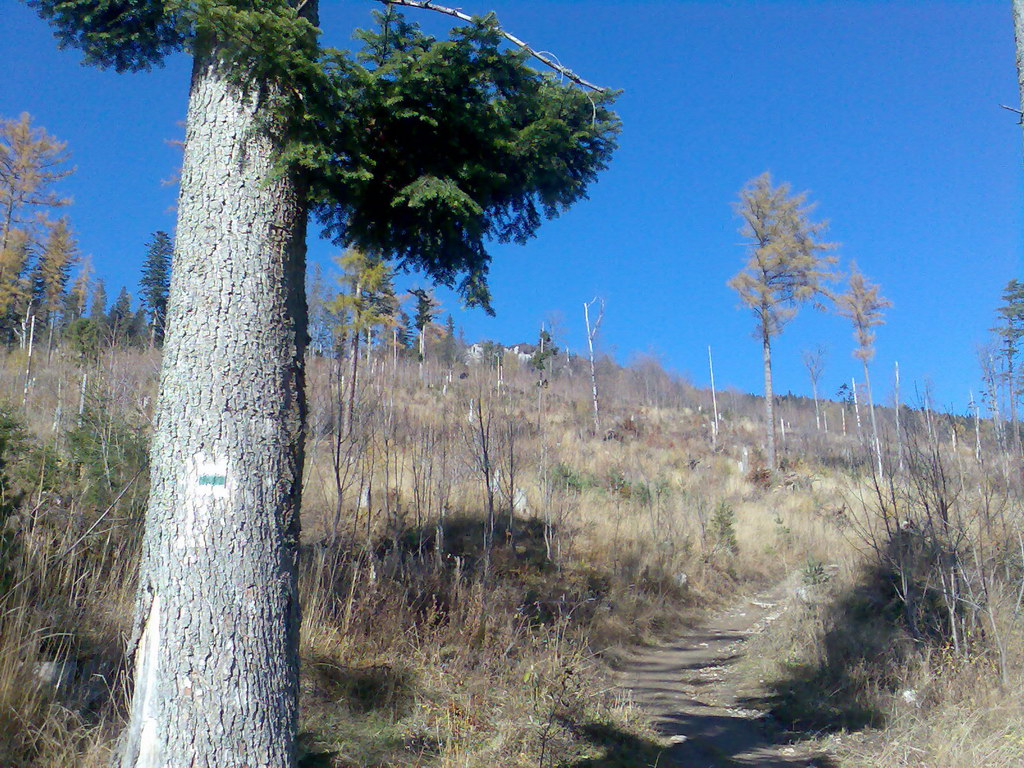
M 1022 141 L 1015 116 L 1010 3 L 610 2 L 463 0 L 588 79 L 624 88 L 621 148 L 591 199 L 525 247 L 494 248 L 497 317 L 461 311 L 470 339 L 530 341 L 561 316 L 584 345 L 582 304 L 603 296 L 602 345 L 722 386 L 761 391 L 751 316 L 725 285 L 743 261 L 731 202 L 770 170 L 809 189 L 840 255 L 856 259 L 894 306 L 879 329 L 872 380 L 887 395 L 894 360 L 904 391 L 931 381 L 963 410 L 977 390 L 975 348 L 1008 280 L 1024 276 Z M 371 0 L 322 0 L 326 41 L 347 47 Z M 410 15 L 432 32 L 447 19 Z M 57 51 L 46 25 L 0 0 L 0 115 L 30 112 L 67 140 L 63 183 L 84 253 L 114 295 L 133 288 L 145 241 L 173 229 L 188 60 L 116 75 Z M 315 227 L 313 227 L 313 230 Z M 310 243 L 329 265 L 335 249 Z M 807 392 L 800 351 L 824 344 L 822 387 L 859 362 L 845 321 L 807 308 L 775 345 L 776 391 Z

